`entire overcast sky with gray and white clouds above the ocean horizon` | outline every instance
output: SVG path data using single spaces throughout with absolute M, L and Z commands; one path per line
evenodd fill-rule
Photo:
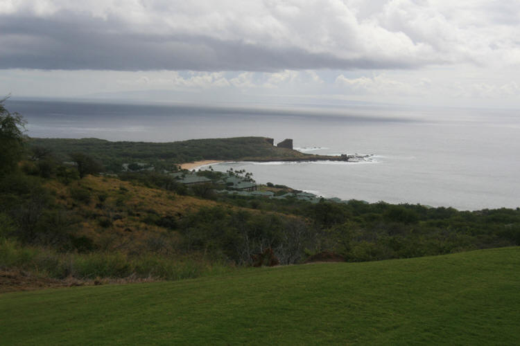
M 0 0 L 0 95 L 520 108 L 520 1 Z

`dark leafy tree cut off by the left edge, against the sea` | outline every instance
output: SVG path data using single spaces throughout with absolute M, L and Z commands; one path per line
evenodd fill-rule
M 10 113 L 0 100 L 0 175 L 12 172 L 24 153 L 25 120 L 19 113 Z

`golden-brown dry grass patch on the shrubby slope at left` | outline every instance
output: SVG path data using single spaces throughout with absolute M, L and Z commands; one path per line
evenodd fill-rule
M 69 185 L 49 181 L 48 187 L 55 193 L 56 201 L 76 215 L 78 222 L 72 226 L 73 232 L 92 239 L 101 251 L 128 254 L 153 251 L 174 255 L 178 253 L 182 242 L 180 233 L 175 228 L 157 226 L 150 220 L 169 218 L 180 223 L 183 217 L 200 208 L 215 206 L 247 210 L 254 214 L 266 212 L 146 188 L 111 177 L 86 176 Z M 74 189 L 87 191 L 89 201 L 73 198 L 71 190 Z M 100 199 L 100 195 L 103 198 Z M 266 213 L 281 215 L 278 212 Z M 302 219 L 293 215 L 283 217 Z

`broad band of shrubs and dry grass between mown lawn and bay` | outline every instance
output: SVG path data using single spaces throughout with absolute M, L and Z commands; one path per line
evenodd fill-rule
M 162 174 L 63 179 L 60 167 L 47 178 L 20 170 L 0 179 L 1 270 L 81 282 L 175 280 L 520 244 L 520 210 L 201 197 L 202 189 Z

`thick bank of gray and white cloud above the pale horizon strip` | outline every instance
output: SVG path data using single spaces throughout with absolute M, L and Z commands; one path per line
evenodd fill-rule
M 511 17 L 494 23 L 508 8 L 487 13 L 411 0 L 81 3 L 0 4 L 0 69 L 415 69 L 520 61 L 518 25 Z

